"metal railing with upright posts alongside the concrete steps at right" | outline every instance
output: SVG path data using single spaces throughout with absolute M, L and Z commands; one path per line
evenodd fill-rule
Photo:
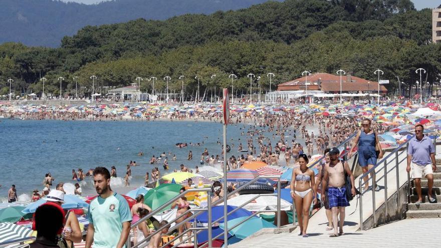
M 413 138 L 414 135 L 411 137 Z M 410 139 L 411 139 L 410 138 Z M 400 161 L 398 161 L 398 157 L 403 153 L 406 152 L 407 149 L 405 150 L 401 150 L 404 146 L 407 148 L 408 147 L 408 143 L 410 141 L 410 139 L 408 139 L 406 142 L 402 143 L 401 145 L 399 145 L 397 148 L 395 148 L 391 153 L 389 153 L 386 157 L 382 158 L 379 162 L 377 162 L 372 168 L 370 168 L 367 172 L 363 173 L 360 178 L 358 179 L 358 187 L 359 187 L 359 191 L 362 192 L 362 180 L 364 177 L 368 177 L 367 181 L 369 181 L 369 179 L 372 179 L 372 218 L 373 218 L 373 227 L 376 227 L 377 225 L 377 218 L 376 218 L 376 204 L 375 204 L 375 188 L 374 185 L 376 185 L 378 178 L 376 178 L 376 171 L 375 169 L 378 168 L 380 165 L 383 165 L 382 167 L 380 167 L 380 169 L 384 169 L 384 206 L 385 206 L 385 211 L 384 211 L 384 217 L 387 218 L 387 159 L 391 158 L 392 155 L 395 155 L 395 165 L 393 166 L 392 169 L 396 169 L 396 185 L 397 185 L 397 192 L 399 190 L 399 167 L 398 165 L 400 164 Z M 401 151 L 400 151 L 401 150 Z M 391 161 L 389 161 L 390 163 Z M 373 174 L 372 176 L 369 177 L 370 174 Z M 376 178 L 376 179 L 375 179 Z M 399 207 L 399 193 L 397 193 L 397 206 Z M 360 194 L 360 229 L 363 230 L 363 194 Z

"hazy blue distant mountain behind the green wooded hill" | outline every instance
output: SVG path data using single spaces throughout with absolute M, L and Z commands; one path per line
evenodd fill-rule
M 128 22 L 138 18 L 165 20 L 183 14 L 239 10 L 267 0 L 113 0 L 97 5 L 57 0 L 1 0 L 0 43 L 59 47 L 87 25 Z M 281 0 L 277 0 L 281 1 Z

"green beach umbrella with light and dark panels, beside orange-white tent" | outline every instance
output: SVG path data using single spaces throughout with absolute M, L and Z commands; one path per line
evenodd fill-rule
M 152 210 L 155 210 L 178 195 L 181 187 L 182 185 L 180 184 L 161 184 L 156 188 L 150 189 L 147 194 L 144 195 L 144 203 L 150 206 Z M 166 206 L 163 210 L 168 208 L 170 208 L 170 205 Z

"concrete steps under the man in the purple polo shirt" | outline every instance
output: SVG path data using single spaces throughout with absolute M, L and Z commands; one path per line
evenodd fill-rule
M 427 179 L 421 178 L 421 192 L 423 203 L 416 205 L 414 202 L 418 200 L 413 181 L 410 182 L 410 202 L 407 204 L 408 211 L 407 218 L 438 218 L 441 217 L 441 165 L 436 166 L 436 171 L 433 173 L 433 189 L 437 203 L 428 202 L 427 196 Z

